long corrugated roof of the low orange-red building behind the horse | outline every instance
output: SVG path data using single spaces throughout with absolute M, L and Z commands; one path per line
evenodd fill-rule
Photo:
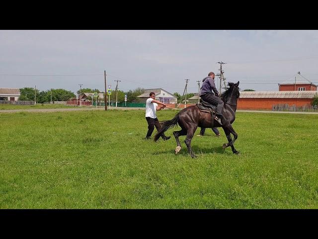
M 242 91 L 239 93 L 239 98 L 311 99 L 316 95 L 317 91 Z

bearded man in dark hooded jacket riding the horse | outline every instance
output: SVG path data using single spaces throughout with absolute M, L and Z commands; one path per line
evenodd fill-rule
M 208 74 L 208 77 L 205 77 L 202 80 L 203 84 L 200 89 L 199 96 L 201 97 L 203 101 L 208 102 L 211 105 L 214 105 L 217 107 L 216 117 L 214 119 L 222 125 L 221 120 L 223 118 L 222 113 L 223 113 L 224 102 L 219 98 L 219 92 L 217 88 L 215 87 L 214 77 L 215 77 L 215 74 L 213 72 L 210 72 Z M 213 94 L 212 91 L 215 94 Z

